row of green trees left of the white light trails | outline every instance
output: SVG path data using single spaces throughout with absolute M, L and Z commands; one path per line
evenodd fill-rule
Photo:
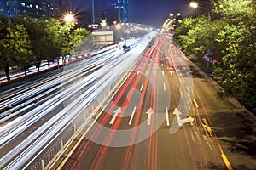
M 42 60 L 52 61 L 73 53 L 73 48 L 90 32 L 74 28 L 52 18 L 32 19 L 29 16 L 8 18 L 0 15 L 0 70 L 39 65 Z

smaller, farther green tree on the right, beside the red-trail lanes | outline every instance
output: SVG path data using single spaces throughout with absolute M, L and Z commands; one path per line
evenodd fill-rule
M 202 53 L 211 50 L 214 59 L 221 59 L 223 48 L 220 42 L 216 41 L 218 33 L 225 26 L 222 20 L 212 20 L 208 23 L 207 17 L 199 16 L 187 18 L 180 27 L 177 27 L 174 40 L 183 47 L 186 54 L 192 54 L 205 63 Z

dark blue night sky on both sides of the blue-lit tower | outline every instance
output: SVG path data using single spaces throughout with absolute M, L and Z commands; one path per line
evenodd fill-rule
M 130 22 L 160 28 L 170 13 L 188 13 L 189 0 L 130 0 Z M 91 10 L 91 0 L 73 0 L 75 10 Z

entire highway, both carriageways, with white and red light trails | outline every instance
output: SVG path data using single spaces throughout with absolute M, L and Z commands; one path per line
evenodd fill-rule
M 216 87 L 152 32 L 126 53 L 115 48 L 1 92 L 1 169 L 251 168 L 219 123 L 226 111 L 247 113 L 216 99 Z

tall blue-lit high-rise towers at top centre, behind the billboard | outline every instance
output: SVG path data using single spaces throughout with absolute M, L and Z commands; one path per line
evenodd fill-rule
M 94 0 L 95 23 L 107 20 L 108 25 L 129 20 L 129 0 Z

